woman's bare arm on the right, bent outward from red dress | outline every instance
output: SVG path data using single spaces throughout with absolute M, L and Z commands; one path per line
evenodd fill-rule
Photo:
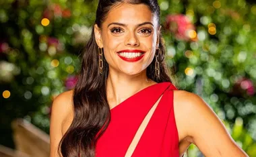
M 194 93 L 175 91 L 179 114 L 183 115 L 185 134 L 207 157 L 248 156 L 228 134 L 216 113 Z

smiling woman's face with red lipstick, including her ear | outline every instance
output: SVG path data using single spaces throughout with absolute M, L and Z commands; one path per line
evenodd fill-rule
M 121 3 L 108 12 L 102 28 L 94 25 L 110 71 L 139 74 L 152 62 L 158 46 L 158 19 L 144 4 Z

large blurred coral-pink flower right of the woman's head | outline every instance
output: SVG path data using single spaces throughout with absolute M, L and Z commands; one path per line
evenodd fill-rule
M 172 32 L 178 40 L 191 40 L 189 31 L 195 30 L 195 26 L 186 15 L 173 14 L 166 17 L 166 29 Z

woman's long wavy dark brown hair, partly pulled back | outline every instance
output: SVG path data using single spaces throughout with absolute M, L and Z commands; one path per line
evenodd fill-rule
M 95 23 L 99 28 L 106 19 L 108 11 L 123 0 L 99 0 Z M 160 26 L 160 8 L 157 0 L 128 0 L 126 3 L 148 5 L 152 13 L 158 17 Z M 94 23 L 94 24 L 95 24 Z M 158 61 L 160 62 L 160 76 L 155 74 L 156 58 L 146 69 L 148 79 L 157 83 L 174 82 L 166 68 L 164 56 L 166 54 L 162 35 L 160 35 Z M 106 79 L 108 77 L 108 63 L 103 57 L 103 73 L 98 72 L 98 46 L 96 44 L 94 29 L 90 40 L 86 44 L 82 55 L 82 68 L 73 92 L 73 121 L 59 143 L 59 156 L 64 157 L 93 157 L 95 146 L 100 135 L 110 121 L 110 108 L 106 99 Z

